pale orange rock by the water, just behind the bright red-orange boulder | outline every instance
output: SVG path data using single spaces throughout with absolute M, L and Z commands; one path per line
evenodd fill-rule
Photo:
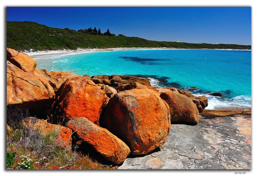
M 51 72 L 48 72 L 46 70 L 40 70 L 40 72 L 41 74 L 44 74 L 46 76 L 46 79 L 48 80 L 49 84 L 54 88 L 55 91 L 57 91 L 60 88 L 60 86 L 63 84 L 63 82 L 68 78 L 79 76 L 75 73 L 58 72 L 56 70 L 52 70 Z

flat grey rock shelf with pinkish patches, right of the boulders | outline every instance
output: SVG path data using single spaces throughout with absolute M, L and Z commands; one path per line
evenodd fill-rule
M 251 169 L 251 114 L 171 124 L 167 141 L 147 155 L 130 155 L 119 169 Z

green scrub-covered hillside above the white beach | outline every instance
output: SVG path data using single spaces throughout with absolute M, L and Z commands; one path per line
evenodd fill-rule
M 251 49 L 250 45 L 166 42 L 139 37 L 91 35 L 70 29 L 48 27 L 30 21 L 7 21 L 7 48 L 15 50 L 119 47 Z

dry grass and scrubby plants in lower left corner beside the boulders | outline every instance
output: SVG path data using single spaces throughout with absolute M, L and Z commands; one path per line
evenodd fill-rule
M 34 122 L 26 121 L 27 110 L 12 107 L 7 110 L 7 153 L 16 153 L 13 163 L 7 169 L 19 169 L 21 156 L 32 159 L 30 169 L 117 169 L 101 165 L 88 155 L 76 151 L 76 147 L 63 149 L 56 140 L 55 129 L 42 135 L 35 129 Z

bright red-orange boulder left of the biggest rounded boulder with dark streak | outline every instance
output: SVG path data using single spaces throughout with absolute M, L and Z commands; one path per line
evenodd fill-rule
M 107 101 L 105 92 L 91 80 L 82 76 L 68 78 L 56 92 L 52 120 L 56 123 L 85 117 L 98 124 Z

